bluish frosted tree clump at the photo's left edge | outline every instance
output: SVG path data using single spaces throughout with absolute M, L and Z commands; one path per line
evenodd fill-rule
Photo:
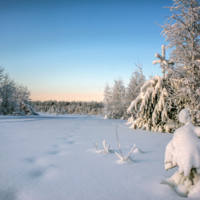
M 36 115 L 30 103 L 30 91 L 4 73 L 0 67 L 0 115 Z

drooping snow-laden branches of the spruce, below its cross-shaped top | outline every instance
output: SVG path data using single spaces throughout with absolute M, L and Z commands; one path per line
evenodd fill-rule
M 164 87 L 163 80 L 162 77 L 155 76 L 141 87 L 140 94 L 132 101 L 127 110 L 128 113 L 137 113 L 137 119 L 131 128 L 155 132 L 170 131 L 164 123 L 168 120 L 165 101 L 168 92 Z

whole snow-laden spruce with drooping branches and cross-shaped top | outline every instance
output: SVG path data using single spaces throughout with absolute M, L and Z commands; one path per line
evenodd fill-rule
M 134 116 L 133 129 L 143 129 L 155 132 L 172 132 L 176 128 L 176 118 L 173 115 L 173 89 L 165 75 L 165 68 L 173 68 L 173 63 L 165 59 L 165 46 L 162 46 L 162 56 L 155 55 L 153 64 L 160 63 L 163 77 L 155 76 L 145 82 L 140 89 L 140 94 L 132 101 L 127 112 Z

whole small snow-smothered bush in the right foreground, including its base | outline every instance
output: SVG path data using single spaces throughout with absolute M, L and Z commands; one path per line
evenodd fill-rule
M 179 121 L 185 125 L 174 132 L 165 151 L 165 169 L 178 167 L 178 171 L 164 183 L 187 196 L 200 182 L 200 128 L 191 123 L 187 109 L 181 110 Z

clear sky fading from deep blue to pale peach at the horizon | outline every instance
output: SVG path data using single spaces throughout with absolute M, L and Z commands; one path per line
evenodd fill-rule
M 106 82 L 146 76 L 172 0 L 0 0 L 0 65 L 33 100 L 102 100 Z

